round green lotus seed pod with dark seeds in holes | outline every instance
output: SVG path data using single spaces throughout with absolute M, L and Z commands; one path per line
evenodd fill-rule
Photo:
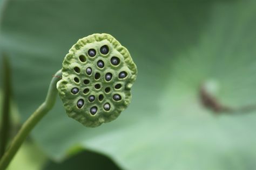
M 69 117 L 87 127 L 116 119 L 131 101 L 137 68 L 110 34 L 79 39 L 65 56 L 59 96 Z

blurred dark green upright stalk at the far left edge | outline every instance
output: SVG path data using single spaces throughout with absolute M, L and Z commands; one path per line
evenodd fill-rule
M 0 159 L 2 158 L 10 134 L 10 100 L 11 100 L 11 77 L 8 58 L 3 54 L 3 107 L 2 123 L 0 127 Z

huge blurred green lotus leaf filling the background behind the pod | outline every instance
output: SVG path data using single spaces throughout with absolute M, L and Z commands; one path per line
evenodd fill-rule
M 110 33 L 137 64 L 132 102 L 114 122 L 85 128 L 57 101 L 32 132 L 53 159 L 79 146 L 125 169 L 253 169 L 256 111 L 214 115 L 200 104 L 199 87 L 214 82 L 217 100 L 231 107 L 256 103 L 255 20 L 254 2 L 16 0 L 0 43 L 11 55 L 23 121 L 79 38 Z

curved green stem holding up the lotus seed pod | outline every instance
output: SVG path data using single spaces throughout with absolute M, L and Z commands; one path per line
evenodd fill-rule
M 55 74 L 55 76 L 52 77 L 48 89 L 48 94 L 44 103 L 42 103 L 39 108 L 35 112 L 33 112 L 28 120 L 26 120 L 26 122 L 22 125 L 21 130 L 19 130 L 14 140 L 10 144 L 8 150 L 4 153 L 3 158 L 0 160 L 0 170 L 4 170 L 9 165 L 12 158 L 14 158 L 14 155 L 16 154 L 19 147 L 22 145 L 23 141 L 26 139 L 30 131 L 44 117 L 44 115 L 46 115 L 48 111 L 52 109 L 57 96 L 56 83 L 59 81 L 60 76 L 62 76 L 61 70 L 59 70 Z

